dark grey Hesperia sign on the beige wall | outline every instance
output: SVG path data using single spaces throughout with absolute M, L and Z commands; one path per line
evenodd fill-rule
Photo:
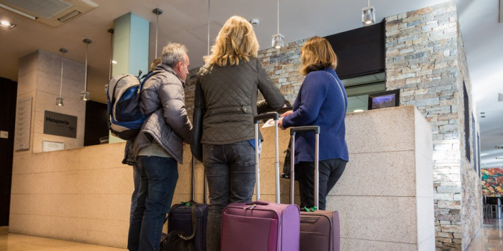
M 77 117 L 45 111 L 44 134 L 63 137 L 77 137 Z

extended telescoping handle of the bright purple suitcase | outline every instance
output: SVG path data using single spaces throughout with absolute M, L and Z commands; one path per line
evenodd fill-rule
M 265 114 L 259 114 L 253 117 L 253 123 L 255 124 L 255 181 L 257 181 L 256 194 L 257 200 L 260 200 L 260 163 L 259 163 L 259 120 L 272 118 L 274 119 L 274 151 L 276 159 L 274 164 L 276 166 L 276 203 L 279 203 L 279 151 L 278 151 L 278 119 L 279 114 L 275 111 L 266 112 Z

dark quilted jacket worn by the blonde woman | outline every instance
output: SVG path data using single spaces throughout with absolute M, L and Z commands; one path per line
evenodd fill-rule
M 277 110 L 285 104 L 279 88 L 253 57 L 235 66 L 205 65 L 198 73 L 196 85 L 196 98 L 201 99 L 194 101 L 194 124 L 196 127 L 202 124 L 201 144 L 231 144 L 255 138 L 253 116 L 257 115 L 257 90 L 265 98 L 259 105 Z M 202 123 L 196 123 L 196 109 L 201 109 Z

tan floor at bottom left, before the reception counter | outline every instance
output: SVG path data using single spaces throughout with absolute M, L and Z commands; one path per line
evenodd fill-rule
M 0 251 L 127 251 L 122 248 L 110 248 L 72 241 L 60 241 L 29 235 L 7 233 L 6 227 L 0 227 Z

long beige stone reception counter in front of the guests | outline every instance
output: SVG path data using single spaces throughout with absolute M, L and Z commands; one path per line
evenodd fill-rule
M 346 131 L 350 162 L 327 198 L 327 209 L 341 218 L 341 250 L 435 250 L 428 122 L 404 106 L 348 114 Z M 274 201 L 274 129 L 262 133 L 261 200 Z M 282 167 L 289 132 L 279 135 Z M 124 146 L 14 156 L 10 233 L 125 248 L 133 171 L 121 163 Z M 190 157 L 185 146 L 174 203 L 191 198 Z M 195 170 L 202 202 L 198 161 Z M 283 203 L 288 186 L 281 181 Z

